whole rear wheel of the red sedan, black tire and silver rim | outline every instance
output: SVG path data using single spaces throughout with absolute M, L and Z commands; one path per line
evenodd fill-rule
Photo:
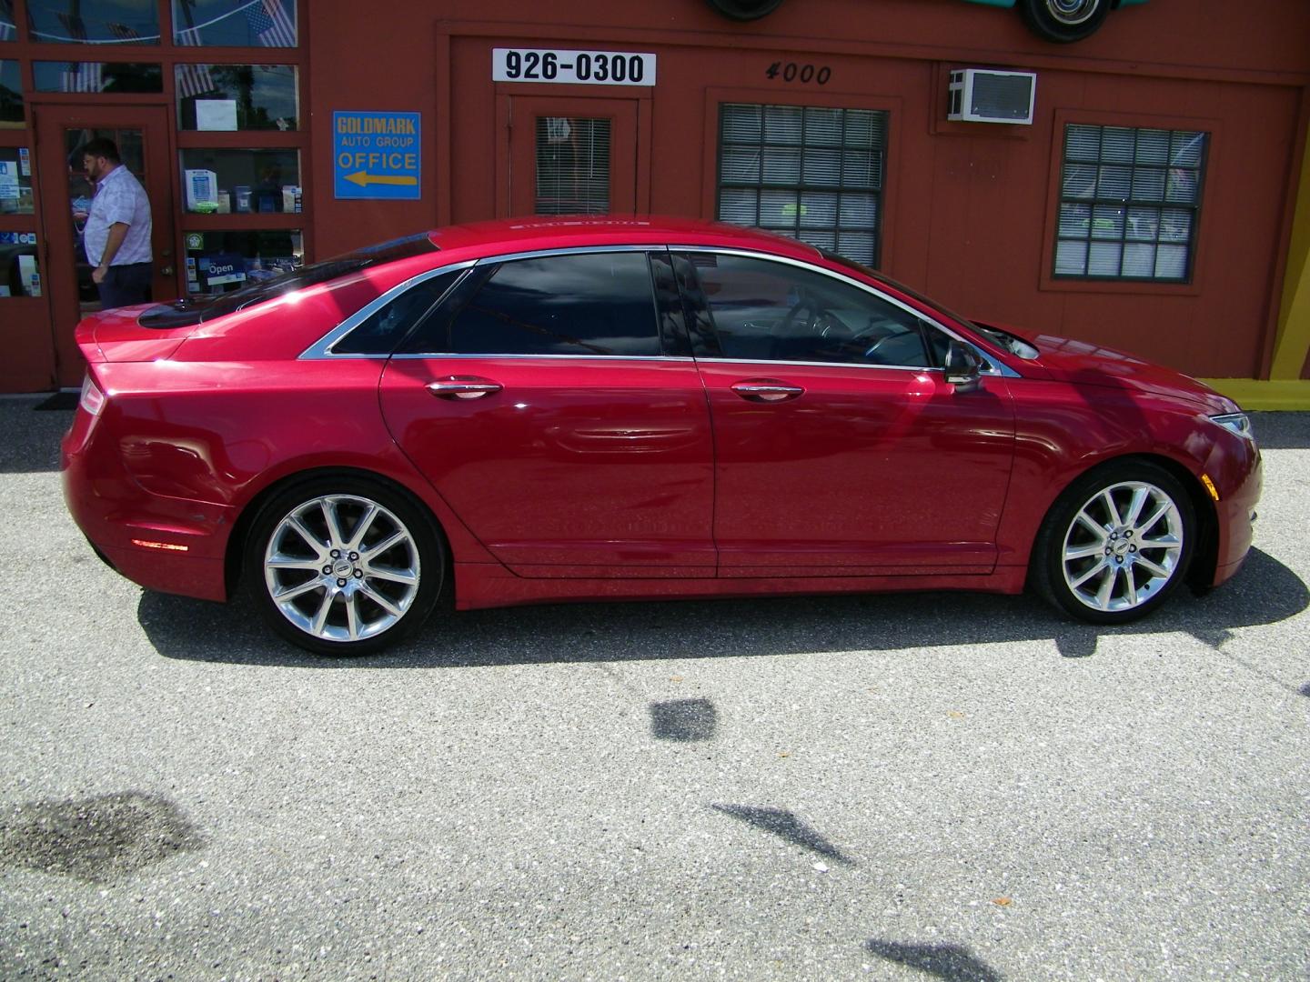
M 427 619 L 445 558 L 435 520 L 403 492 L 354 474 L 318 475 L 259 509 L 246 538 L 245 581 L 265 622 L 292 644 L 371 655 Z

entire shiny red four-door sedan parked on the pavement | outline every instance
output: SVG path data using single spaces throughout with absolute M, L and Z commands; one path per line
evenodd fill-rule
M 88 318 L 68 507 L 149 589 L 324 653 L 561 600 L 1031 585 L 1098 623 L 1251 545 L 1229 399 L 789 238 L 443 228 Z

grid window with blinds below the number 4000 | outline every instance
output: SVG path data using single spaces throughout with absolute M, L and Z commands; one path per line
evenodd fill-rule
M 878 264 L 887 113 L 719 106 L 718 217 Z

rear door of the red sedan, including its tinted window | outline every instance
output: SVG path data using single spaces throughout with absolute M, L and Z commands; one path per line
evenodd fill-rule
M 481 263 L 388 361 L 386 423 L 520 576 L 713 577 L 709 410 L 676 306 L 662 250 Z

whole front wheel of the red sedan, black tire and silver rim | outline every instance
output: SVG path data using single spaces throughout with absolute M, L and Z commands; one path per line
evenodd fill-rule
M 1106 464 L 1051 505 L 1032 546 L 1030 581 L 1076 619 L 1127 623 L 1186 580 L 1196 539 L 1191 495 L 1172 474 L 1149 461 Z

